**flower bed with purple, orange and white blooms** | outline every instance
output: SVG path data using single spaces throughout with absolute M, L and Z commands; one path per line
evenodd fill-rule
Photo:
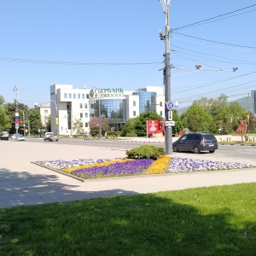
M 172 172 L 201 172 L 256 167 L 235 162 L 211 160 L 192 160 L 189 158 L 161 156 L 158 160 L 127 158 L 115 159 L 79 159 L 79 160 L 44 160 L 35 164 L 69 173 L 84 179 L 96 177 L 121 177 L 141 174 L 160 174 Z

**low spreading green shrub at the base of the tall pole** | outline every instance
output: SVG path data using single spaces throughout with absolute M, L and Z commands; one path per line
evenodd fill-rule
M 157 160 L 160 155 L 165 155 L 166 150 L 162 147 L 143 145 L 138 148 L 133 148 L 131 150 L 126 150 L 128 158 L 138 159 L 138 158 L 147 158 Z

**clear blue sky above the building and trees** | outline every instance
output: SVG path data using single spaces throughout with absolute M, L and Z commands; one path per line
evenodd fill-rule
M 204 96 L 224 93 L 234 101 L 256 90 L 255 17 L 251 0 L 171 1 L 171 99 L 179 108 Z M 1 1 L 0 95 L 14 102 L 17 88 L 19 102 L 32 108 L 49 102 L 55 83 L 163 86 L 159 29 L 165 32 L 158 0 Z

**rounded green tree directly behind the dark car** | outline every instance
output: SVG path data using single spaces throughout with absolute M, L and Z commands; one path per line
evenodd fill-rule
M 212 116 L 198 105 L 192 105 L 186 113 L 182 114 L 184 125 L 189 131 L 211 131 Z

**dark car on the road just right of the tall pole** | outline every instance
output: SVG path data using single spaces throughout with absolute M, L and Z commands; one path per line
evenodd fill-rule
M 213 153 L 216 149 L 218 149 L 217 139 L 209 132 L 191 132 L 172 143 L 174 152 L 194 151 L 195 154 L 198 154 L 201 151 L 209 151 Z

